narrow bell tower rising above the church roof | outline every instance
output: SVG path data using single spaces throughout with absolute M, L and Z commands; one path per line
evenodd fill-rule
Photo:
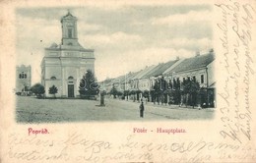
M 77 18 L 69 11 L 68 14 L 61 18 L 62 27 L 62 45 L 78 45 Z

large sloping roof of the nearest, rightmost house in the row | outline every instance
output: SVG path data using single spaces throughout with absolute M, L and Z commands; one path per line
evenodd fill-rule
M 178 73 L 183 71 L 205 68 L 214 60 L 215 56 L 213 53 L 187 58 L 183 62 L 178 64 L 176 67 L 174 67 L 169 73 Z

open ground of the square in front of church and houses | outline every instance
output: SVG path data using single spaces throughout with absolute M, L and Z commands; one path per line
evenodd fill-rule
M 144 118 L 139 116 L 138 102 L 105 99 L 37 99 L 17 96 L 16 117 L 18 123 L 102 122 L 102 121 L 160 121 L 160 120 L 209 120 L 214 109 L 180 108 L 178 106 L 145 104 Z

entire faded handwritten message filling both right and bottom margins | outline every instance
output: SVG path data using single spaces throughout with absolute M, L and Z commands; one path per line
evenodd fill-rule
M 96 139 L 85 133 L 68 136 L 8 136 L 4 155 L 9 162 L 253 162 L 256 149 L 251 142 L 252 108 L 250 105 L 252 65 L 252 29 L 255 9 L 242 1 L 215 4 L 222 17 L 216 27 L 221 42 L 223 68 L 218 96 L 223 103 L 219 141 L 204 137 L 191 140 L 150 141 L 147 135 L 132 134 Z M 254 109 L 254 108 L 253 108 Z M 218 121 L 218 120 L 217 120 Z

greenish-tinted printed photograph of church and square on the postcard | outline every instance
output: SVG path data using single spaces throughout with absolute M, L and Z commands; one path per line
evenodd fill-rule
M 212 13 L 204 4 L 18 8 L 17 122 L 212 119 Z

